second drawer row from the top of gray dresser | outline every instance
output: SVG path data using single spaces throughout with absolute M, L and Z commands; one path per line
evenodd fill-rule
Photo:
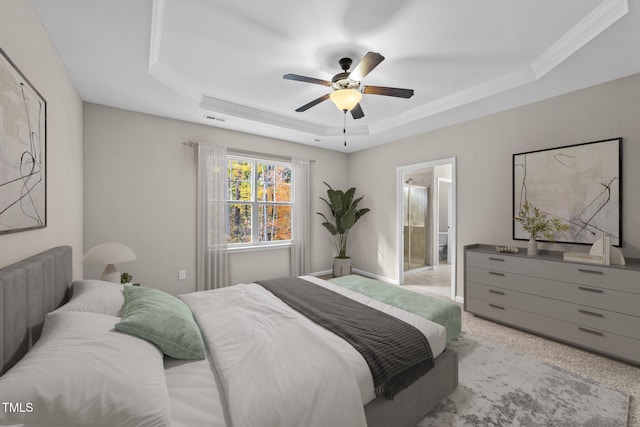
M 631 316 L 640 316 L 640 294 L 478 267 L 467 267 L 466 280 L 470 283 L 490 285 Z

